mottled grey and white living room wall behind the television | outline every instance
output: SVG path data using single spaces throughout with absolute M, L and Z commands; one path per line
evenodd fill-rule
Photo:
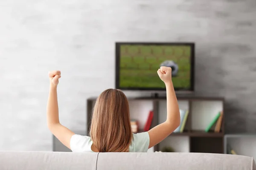
M 62 72 L 61 123 L 85 130 L 86 99 L 114 88 L 115 41 L 196 42 L 196 91 L 226 98 L 227 133 L 255 132 L 255 8 L 255 0 L 0 1 L 0 150 L 52 150 L 49 70 Z

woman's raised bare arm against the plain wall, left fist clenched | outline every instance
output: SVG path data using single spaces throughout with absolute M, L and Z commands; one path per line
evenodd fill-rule
M 47 125 L 52 134 L 70 149 L 70 139 L 75 133 L 60 124 L 58 116 L 57 85 L 60 71 L 49 72 L 50 88 L 47 102 Z

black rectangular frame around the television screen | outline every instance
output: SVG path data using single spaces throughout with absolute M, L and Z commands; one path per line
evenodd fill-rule
M 122 88 L 119 86 L 119 67 L 120 67 L 120 45 L 189 45 L 191 46 L 191 57 L 190 57 L 190 88 L 175 88 L 175 91 L 194 91 L 194 78 L 195 78 L 195 42 L 116 42 L 116 77 L 115 85 L 116 89 L 120 90 L 131 90 L 131 91 L 166 91 L 166 88 Z M 157 73 L 156 73 L 157 74 Z

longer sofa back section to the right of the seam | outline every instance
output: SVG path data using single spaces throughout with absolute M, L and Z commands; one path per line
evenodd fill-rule
M 97 161 L 97 170 L 252 170 L 252 166 L 251 157 L 213 153 L 99 153 Z

